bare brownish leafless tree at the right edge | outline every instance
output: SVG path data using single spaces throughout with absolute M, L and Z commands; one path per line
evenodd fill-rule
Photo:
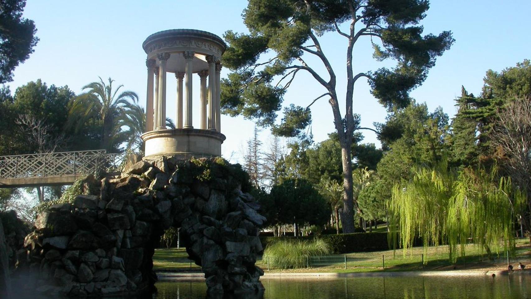
M 521 221 L 531 238 L 531 98 L 513 100 L 497 114 L 493 144 L 504 172 L 526 195 Z

